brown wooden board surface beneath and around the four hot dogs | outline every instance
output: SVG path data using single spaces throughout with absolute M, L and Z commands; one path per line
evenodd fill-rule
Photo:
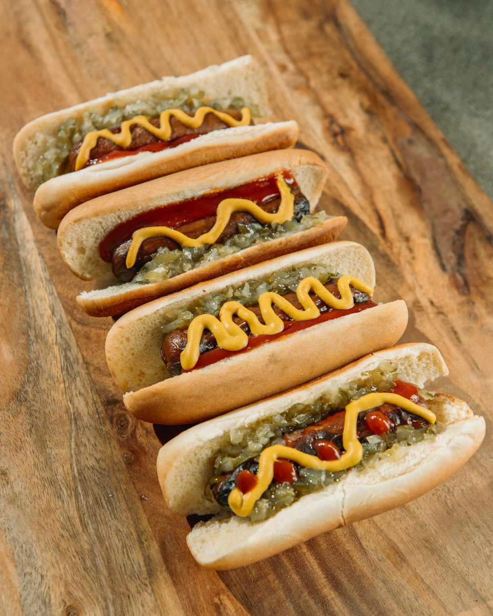
M 493 208 L 346 0 L 17 0 L 0 41 L 0 612 L 493 614 Z M 327 161 L 320 207 L 369 248 L 405 341 L 442 351 L 439 388 L 484 415 L 473 459 L 409 505 L 230 572 L 201 569 L 166 509 L 160 442 L 104 359 L 110 319 L 32 211 L 12 160 L 36 116 L 251 53 L 275 118 Z M 164 429 L 166 434 L 169 429 Z M 159 433 L 159 431 L 158 431 Z M 162 436 L 162 435 L 161 435 Z

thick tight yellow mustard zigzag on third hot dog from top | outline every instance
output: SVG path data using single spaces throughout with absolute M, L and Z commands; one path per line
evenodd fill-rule
M 337 282 L 341 298 L 336 298 L 322 283 L 313 277 L 303 278 L 296 288 L 296 296 L 303 310 L 295 308 L 291 302 L 283 298 L 279 293 L 267 291 L 261 293 L 258 304 L 265 325 L 256 315 L 242 306 L 239 302 L 226 302 L 219 310 L 219 318 L 211 314 L 201 314 L 195 317 L 189 325 L 187 332 L 187 346 L 181 352 L 180 362 L 184 370 L 191 370 L 200 356 L 200 339 L 204 330 L 214 334 L 218 346 L 227 351 L 240 351 L 248 344 L 248 334 L 233 321 L 233 315 L 245 320 L 250 326 L 252 334 L 277 334 L 284 329 L 282 318 L 275 314 L 272 304 L 275 304 L 288 317 L 295 321 L 308 321 L 320 316 L 320 310 L 310 297 L 310 291 L 332 308 L 348 310 L 354 306 L 350 285 L 363 293 L 373 293 L 373 289 L 366 283 L 352 276 L 341 276 Z

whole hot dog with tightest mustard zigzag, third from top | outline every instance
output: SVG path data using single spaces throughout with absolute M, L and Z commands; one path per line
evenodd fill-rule
M 405 302 L 375 304 L 374 283 L 352 242 L 277 257 L 124 315 L 107 336 L 108 367 L 137 418 L 202 421 L 395 344 Z

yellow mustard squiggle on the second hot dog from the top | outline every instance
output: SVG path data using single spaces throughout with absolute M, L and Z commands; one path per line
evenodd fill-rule
M 187 246 L 188 248 L 198 248 L 205 244 L 213 244 L 224 231 L 233 212 L 248 212 L 263 224 L 277 222 L 277 224 L 281 225 L 283 222 L 290 221 L 294 214 L 295 198 L 286 184 L 286 180 L 282 177 L 282 172 L 278 171 L 276 176 L 277 187 L 281 195 L 281 203 L 277 212 L 269 214 L 249 199 L 231 198 L 223 199 L 219 203 L 216 212 L 216 222 L 213 228 L 196 239 L 188 237 L 176 229 L 171 229 L 171 227 L 144 227 L 143 229 L 137 229 L 132 234 L 132 242 L 125 261 L 126 266 L 128 269 L 133 267 L 142 242 L 150 237 L 169 237 L 179 245 Z

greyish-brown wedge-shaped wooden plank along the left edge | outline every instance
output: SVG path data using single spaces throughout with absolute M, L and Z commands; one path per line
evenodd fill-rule
M 4 180 L 0 516 L 6 613 L 75 616 L 166 607 L 182 614 L 8 172 Z M 128 583 L 131 594 L 124 591 Z

